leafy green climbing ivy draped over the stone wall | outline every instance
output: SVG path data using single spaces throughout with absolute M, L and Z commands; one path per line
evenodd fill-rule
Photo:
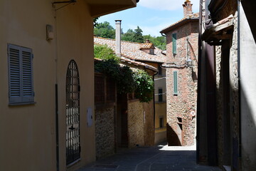
M 95 56 L 102 59 L 95 63 L 95 71 L 112 78 L 117 83 L 117 93 L 134 92 L 142 103 L 153 99 L 154 81 L 146 71 L 132 71 L 129 66 L 121 66 L 119 58 L 107 46 L 95 46 Z

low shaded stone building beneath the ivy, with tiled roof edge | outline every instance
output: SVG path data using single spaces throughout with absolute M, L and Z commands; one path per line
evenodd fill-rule
M 120 57 L 122 66 L 156 74 L 146 63 Z M 95 58 L 95 63 L 104 62 Z M 116 83 L 95 72 L 95 149 L 96 158 L 114 154 L 117 147 L 154 145 L 154 102 L 141 103 L 131 94 L 119 94 Z

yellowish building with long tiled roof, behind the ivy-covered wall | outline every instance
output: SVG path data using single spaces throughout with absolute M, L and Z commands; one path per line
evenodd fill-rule
M 121 22 L 121 21 L 119 21 Z M 154 102 L 152 105 L 152 115 L 154 123 L 147 125 L 146 129 L 154 129 L 154 136 L 147 134 L 149 139 L 154 137 L 154 142 L 157 144 L 166 140 L 166 71 L 161 68 L 162 64 L 166 62 L 166 55 L 161 49 L 154 47 L 153 43 L 134 43 L 129 41 L 117 41 L 110 38 L 95 37 L 95 44 L 107 45 L 112 50 L 117 51 L 116 44 L 120 43 L 120 54 L 125 60 L 136 61 L 137 64 L 146 64 L 158 69 L 158 73 L 154 74 Z M 117 53 L 117 52 L 116 52 Z M 124 60 L 124 61 L 125 61 Z M 129 63 L 130 61 L 127 61 Z M 147 67 L 146 66 L 146 67 Z M 159 95 L 160 94 L 160 95 Z M 138 102 L 139 103 L 139 102 Z M 147 115 L 147 113 L 146 113 Z M 151 144 L 151 141 L 146 141 Z

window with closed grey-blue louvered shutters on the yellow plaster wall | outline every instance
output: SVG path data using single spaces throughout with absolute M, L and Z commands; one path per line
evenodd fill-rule
M 34 103 L 31 48 L 8 44 L 9 104 Z

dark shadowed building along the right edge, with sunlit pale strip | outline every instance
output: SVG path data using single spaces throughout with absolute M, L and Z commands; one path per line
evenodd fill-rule
M 256 3 L 201 4 L 198 162 L 256 170 Z

